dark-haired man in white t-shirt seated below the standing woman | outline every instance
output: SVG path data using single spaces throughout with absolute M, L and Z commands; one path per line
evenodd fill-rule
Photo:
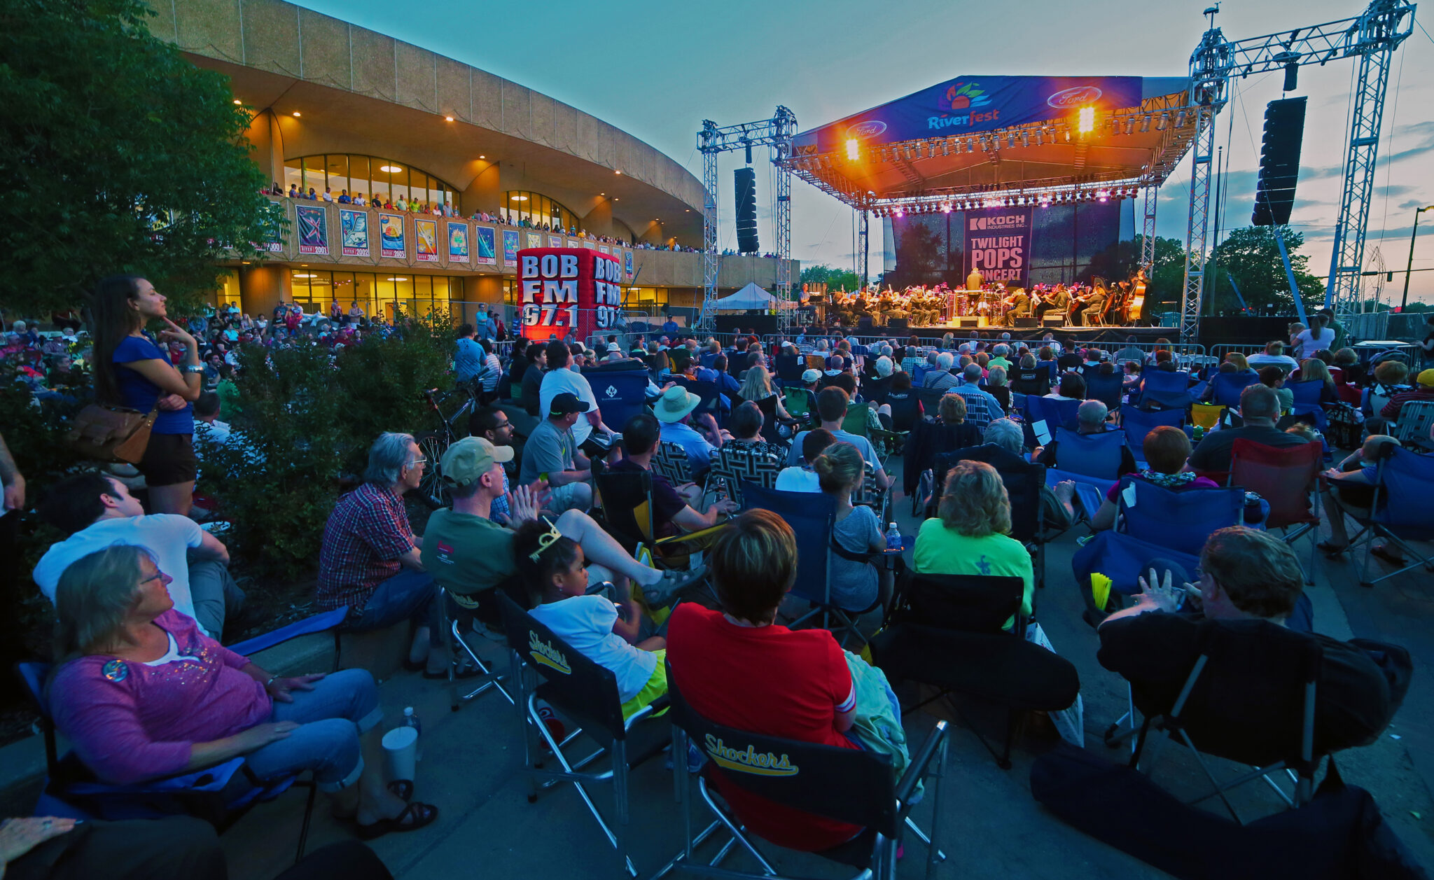
M 40 517 L 67 533 L 50 545 L 33 578 L 50 602 L 72 562 L 116 543 L 138 545 L 155 555 L 155 565 L 172 578 L 175 611 L 194 618 L 218 639 L 227 615 L 238 613 L 244 592 L 229 576 L 229 550 L 188 516 L 145 515 L 119 480 L 98 472 L 57 483 L 40 502 Z

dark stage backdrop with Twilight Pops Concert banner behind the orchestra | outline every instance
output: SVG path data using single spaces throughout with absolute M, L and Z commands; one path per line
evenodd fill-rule
M 1021 238 L 1007 226 L 991 229 L 989 216 L 1010 216 L 1024 212 L 1028 232 L 1022 242 L 1001 239 Z M 987 218 L 987 228 L 972 228 L 972 219 Z M 918 214 L 886 218 L 883 285 L 903 288 L 946 282 L 962 288 L 971 264 L 978 259 L 987 281 L 1005 281 L 1007 287 L 1034 284 L 1090 282 L 1096 275 L 1124 281 L 1134 269 L 1136 251 L 1134 202 L 1080 202 L 1048 208 L 989 208 L 952 211 L 951 214 Z M 977 224 L 979 226 L 979 222 Z M 1015 265 L 1015 248 L 1024 248 L 1024 265 Z M 994 251 L 994 254 L 991 252 Z M 989 264 L 987 261 L 991 261 Z M 998 278 L 992 274 L 1015 274 L 1018 278 Z M 1022 272 L 1024 271 L 1024 272 Z

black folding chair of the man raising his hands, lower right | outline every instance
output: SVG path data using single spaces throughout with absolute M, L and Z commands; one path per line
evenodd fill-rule
M 1328 754 L 1316 745 L 1315 704 L 1324 651 L 1309 633 L 1293 632 L 1269 621 L 1206 621 L 1200 628 L 1197 658 L 1166 708 L 1133 688 L 1136 708 L 1144 715 L 1136 734 L 1130 767 L 1146 773 L 1156 762 L 1152 730 L 1179 737 L 1190 750 L 1212 790 L 1187 803 L 1219 797 L 1235 821 L 1243 821 L 1226 791 L 1265 778 L 1291 807 L 1309 801 L 1315 771 Z M 1144 705 L 1141 705 L 1144 704 Z M 1127 734 L 1129 735 L 1129 734 Z M 1123 738 L 1123 737 L 1121 737 Z M 1117 738 L 1119 740 L 1119 738 Z M 1149 754 L 1147 754 L 1149 747 Z M 1215 778 L 1206 755 L 1253 767 L 1233 780 Z M 1286 794 L 1271 774 L 1289 770 L 1293 794 Z

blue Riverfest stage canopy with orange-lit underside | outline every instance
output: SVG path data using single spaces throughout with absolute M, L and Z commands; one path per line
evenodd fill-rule
M 1195 138 L 1187 77 L 958 76 L 796 136 L 793 171 L 879 214 L 1129 198 Z

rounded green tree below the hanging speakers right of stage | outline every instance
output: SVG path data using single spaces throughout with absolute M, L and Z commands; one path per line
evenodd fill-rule
M 1282 226 L 1281 231 L 1305 308 L 1321 308 L 1325 284 L 1309 274 L 1309 257 L 1298 252 L 1305 244 L 1305 236 L 1289 226 Z M 1245 304 L 1255 311 L 1276 314 L 1295 311 L 1295 298 L 1289 291 L 1289 278 L 1285 275 L 1285 264 L 1279 258 L 1279 245 L 1275 242 L 1272 226 L 1245 226 L 1230 231 L 1210 254 L 1210 261 L 1205 282 L 1207 314 L 1239 310 L 1239 300 L 1230 288 L 1229 277 L 1235 278 Z

